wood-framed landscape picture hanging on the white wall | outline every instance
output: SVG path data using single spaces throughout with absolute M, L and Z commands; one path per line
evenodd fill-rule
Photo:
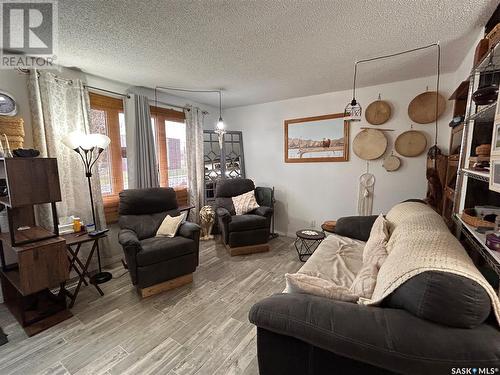
M 343 113 L 285 120 L 285 162 L 349 160 L 349 122 Z

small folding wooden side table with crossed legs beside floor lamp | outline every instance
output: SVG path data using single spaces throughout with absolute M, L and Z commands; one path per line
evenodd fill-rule
M 61 286 L 61 290 L 64 290 L 64 293 L 66 296 L 71 300 L 69 304 L 69 308 L 72 308 L 73 305 L 75 304 L 76 297 L 78 296 L 78 293 L 80 292 L 80 288 L 82 284 L 89 285 L 92 284 L 94 285 L 94 288 L 99 292 L 101 296 L 104 295 L 104 292 L 102 289 L 99 287 L 99 285 L 95 283 L 90 282 L 90 274 L 88 273 L 88 268 L 90 265 L 90 262 L 92 260 L 92 256 L 94 255 L 94 252 L 97 249 L 97 246 L 99 244 L 99 240 L 101 238 L 107 237 L 106 233 L 101 234 L 100 236 L 97 237 L 90 237 L 87 233 L 70 233 L 70 234 L 65 234 L 61 236 L 66 240 L 66 249 L 68 251 L 68 260 L 69 260 L 69 270 L 74 270 L 76 274 L 78 275 L 78 284 L 76 285 L 75 291 L 73 293 L 69 292 L 65 288 L 65 282 Z M 80 248 L 84 243 L 92 243 L 92 248 L 90 249 L 89 255 L 87 256 L 87 259 L 82 262 L 80 258 L 78 257 L 78 254 L 80 252 Z M 88 282 L 85 278 L 88 278 Z

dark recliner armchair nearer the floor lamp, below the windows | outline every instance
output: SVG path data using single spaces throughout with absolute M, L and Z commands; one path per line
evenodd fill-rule
M 172 188 L 122 191 L 119 214 L 118 240 L 132 283 L 143 296 L 192 281 L 198 266 L 200 227 L 184 222 L 175 237 L 155 237 L 167 215 L 179 215 Z

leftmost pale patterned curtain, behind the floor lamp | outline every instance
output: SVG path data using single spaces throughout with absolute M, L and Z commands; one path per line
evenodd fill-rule
M 57 158 L 62 202 L 57 203 L 59 217 L 79 216 L 84 223 L 92 222 L 87 179 L 83 164 L 61 139 L 72 131 L 90 132 L 89 97 L 79 79 L 66 80 L 45 71 L 32 70 L 28 80 L 33 123 L 33 145 L 42 157 Z M 106 227 L 98 168 L 94 167 L 92 193 L 96 208 L 96 226 Z M 45 208 L 45 207 L 44 207 Z M 44 212 L 45 211 L 45 212 Z M 50 216 L 39 210 L 38 220 L 44 225 Z M 49 224 L 51 225 L 51 224 Z M 102 242 L 101 252 L 109 256 L 109 244 Z

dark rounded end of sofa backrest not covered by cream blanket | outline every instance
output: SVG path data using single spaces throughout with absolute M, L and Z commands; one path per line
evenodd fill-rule
M 397 288 L 386 306 L 405 309 L 436 323 L 472 328 L 486 320 L 491 300 L 486 290 L 466 277 L 427 271 Z

